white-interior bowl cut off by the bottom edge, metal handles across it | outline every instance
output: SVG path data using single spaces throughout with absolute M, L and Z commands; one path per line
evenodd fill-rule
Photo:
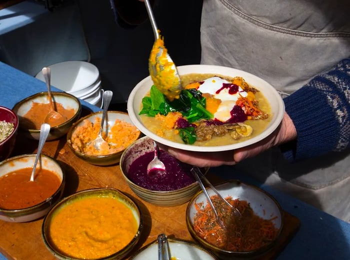
M 191 241 L 186 241 L 178 238 L 167 238 L 171 259 L 200 259 L 200 260 L 215 260 L 216 257 Z M 158 241 L 154 240 L 144 247 L 137 250 L 130 256 L 130 260 L 157 259 L 158 257 Z M 173 258 L 172 258 L 173 257 Z

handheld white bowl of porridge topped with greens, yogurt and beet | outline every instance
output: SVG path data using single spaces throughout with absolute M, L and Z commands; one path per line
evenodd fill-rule
M 284 103 L 268 82 L 216 65 L 177 67 L 182 90 L 169 100 L 150 76 L 131 91 L 127 110 L 153 140 L 179 149 L 223 151 L 255 143 L 282 120 Z

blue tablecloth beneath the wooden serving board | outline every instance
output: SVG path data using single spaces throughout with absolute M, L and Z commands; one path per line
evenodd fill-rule
M 53 90 L 57 90 L 52 87 Z M 20 99 L 45 91 L 45 83 L 0 62 L 0 105 L 12 108 Z M 100 108 L 81 101 L 91 111 Z M 230 166 L 211 168 L 223 179 L 232 178 Z M 234 178 L 254 184 L 273 195 L 281 207 L 300 219 L 300 228 L 277 259 L 350 259 L 350 223 L 322 212 L 294 197 L 288 196 L 246 175 L 234 172 Z M 3 256 L 0 260 L 5 259 Z

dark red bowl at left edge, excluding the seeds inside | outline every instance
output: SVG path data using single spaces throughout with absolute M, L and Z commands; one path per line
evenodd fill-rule
M 12 123 L 13 130 L 9 135 L 6 134 L 7 137 L 5 139 L 0 141 L 0 161 L 8 158 L 13 150 L 18 129 L 18 117 L 11 109 L 0 106 L 0 122 L 1 121 Z

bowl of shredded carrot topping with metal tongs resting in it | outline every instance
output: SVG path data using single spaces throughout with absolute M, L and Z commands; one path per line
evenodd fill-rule
M 199 191 L 188 202 L 186 224 L 189 233 L 219 258 L 255 259 L 275 245 L 282 226 L 283 213 L 278 202 L 264 190 L 238 180 L 215 185 L 241 216 L 232 216 L 217 194 L 207 192 L 224 225 L 218 224 L 204 193 Z

